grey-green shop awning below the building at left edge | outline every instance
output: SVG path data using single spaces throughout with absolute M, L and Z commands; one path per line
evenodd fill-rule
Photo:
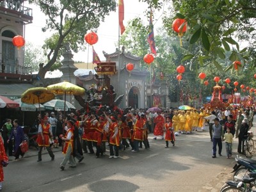
M 0 84 L 0 95 L 8 97 L 12 100 L 19 99 L 20 95 L 28 90 L 33 88 L 33 84 L 29 83 L 6 83 Z

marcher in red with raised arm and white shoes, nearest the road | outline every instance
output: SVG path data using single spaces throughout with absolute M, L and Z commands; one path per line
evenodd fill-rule
M 120 140 L 119 140 L 118 124 L 116 123 L 117 118 L 114 115 L 111 115 L 109 118 L 105 112 L 103 113 L 109 122 L 109 151 L 110 151 L 109 159 L 118 158 Z M 114 149 L 113 149 L 114 147 L 115 147 L 115 155 L 114 155 Z

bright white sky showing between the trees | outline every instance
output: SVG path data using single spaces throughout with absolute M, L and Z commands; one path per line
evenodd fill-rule
M 43 45 L 45 38 L 51 36 L 52 32 L 42 32 L 42 27 L 45 25 L 45 15 L 40 12 L 40 8 L 33 6 L 31 4 L 27 5 L 29 8 L 33 9 L 33 23 L 26 26 L 25 40 L 32 42 L 34 45 Z M 127 26 L 127 22 L 135 17 L 141 17 L 144 24 L 148 24 L 148 19 L 145 16 L 145 11 L 147 10 L 148 4 L 138 2 L 138 0 L 124 0 L 124 25 Z M 163 12 L 163 10 L 161 10 Z M 155 22 L 154 32 L 156 34 L 157 26 L 161 25 L 161 13 L 157 12 L 155 16 L 157 22 Z M 118 43 L 118 8 L 116 12 L 111 12 L 104 22 L 101 22 L 97 35 L 99 40 L 97 44 L 93 45 L 95 51 L 99 55 L 100 60 L 106 60 L 102 51 L 107 53 L 115 52 Z M 36 34 L 36 35 L 35 35 Z M 38 36 L 40 38 L 38 38 Z M 83 61 L 85 63 L 92 62 L 92 47 L 86 43 L 84 46 L 87 47 L 86 51 L 74 54 L 74 61 Z

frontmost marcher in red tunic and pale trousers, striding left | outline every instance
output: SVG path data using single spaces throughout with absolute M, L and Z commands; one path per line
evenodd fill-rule
M 62 141 L 65 141 L 65 145 L 63 148 L 63 154 L 65 154 L 65 157 L 63 159 L 63 161 L 60 164 L 60 169 L 64 170 L 65 169 L 65 165 L 67 164 L 67 162 L 69 161 L 71 164 L 71 168 L 75 168 L 76 167 L 76 162 L 73 156 L 73 148 L 74 148 L 74 122 L 72 122 L 71 120 L 69 120 L 67 122 L 67 132 L 65 137 L 61 138 Z

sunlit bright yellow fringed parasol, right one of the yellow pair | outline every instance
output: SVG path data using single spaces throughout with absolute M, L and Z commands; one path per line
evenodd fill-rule
M 57 84 L 51 84 L 47 86 L 47 90 L 50 90 L 52 93 L 56 95 L 65 95 L 64 101 L 66 102 L 66 95 L 83 95 L 85 93 L 84 88 L 81 88 L 77 86 L 76 84 L 69 83 L 67 81 L 57 83 Z M 66 111 L 64 105 L 64 113 Z

